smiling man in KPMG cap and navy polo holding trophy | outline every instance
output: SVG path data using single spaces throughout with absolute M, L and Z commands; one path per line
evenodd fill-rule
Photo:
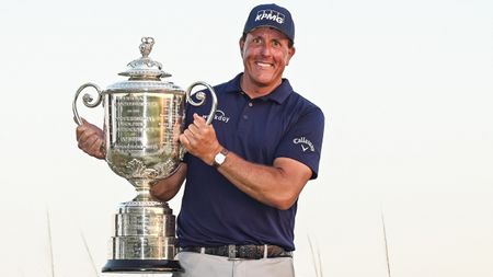
M 295 25 L 285 8 L 250 12 L 240 50 L 244 70 L 215 86 L 218 112 L 187 108 L 180 141 L 188 151 L 177 172 L 153 185 L 169 200 L 186 180 L 177 217 L 175 276 L 294 276 L 297 199 L 318 175 L 324 117 L 283 72 L 295 55 Z M 103 132 L 78 127 L 79 147 L 104 158 Z

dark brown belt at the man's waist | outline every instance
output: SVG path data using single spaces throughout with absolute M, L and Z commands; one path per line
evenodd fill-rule
M 229 259 L 259 259 L 266 257 L 293 257 L 293 253 L 277 245 L 223 245 L 223 246 L 185 246 L 180 252 L 195 252 Z

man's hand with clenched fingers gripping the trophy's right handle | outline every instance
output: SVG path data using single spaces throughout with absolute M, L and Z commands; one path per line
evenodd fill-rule
M 194 114 L 194 122 L 180 135 L 180 141 L 191 154 L 210 165 L 214 157 L 221 150 L 213 125 L 208 125 L 197 114 Z

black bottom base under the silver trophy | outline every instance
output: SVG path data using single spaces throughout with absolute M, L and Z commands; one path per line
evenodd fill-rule
M 174 259 L 108 259 L 103 273 L 183 273 Z

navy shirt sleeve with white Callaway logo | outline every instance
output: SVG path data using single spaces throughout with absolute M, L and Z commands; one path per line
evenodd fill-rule
M 317 178 L 322 151 L 325 118 L 316 107 L 300 116 L 280 140 L 275 157 L 297 160 L 311 169 L 311 180 Z

